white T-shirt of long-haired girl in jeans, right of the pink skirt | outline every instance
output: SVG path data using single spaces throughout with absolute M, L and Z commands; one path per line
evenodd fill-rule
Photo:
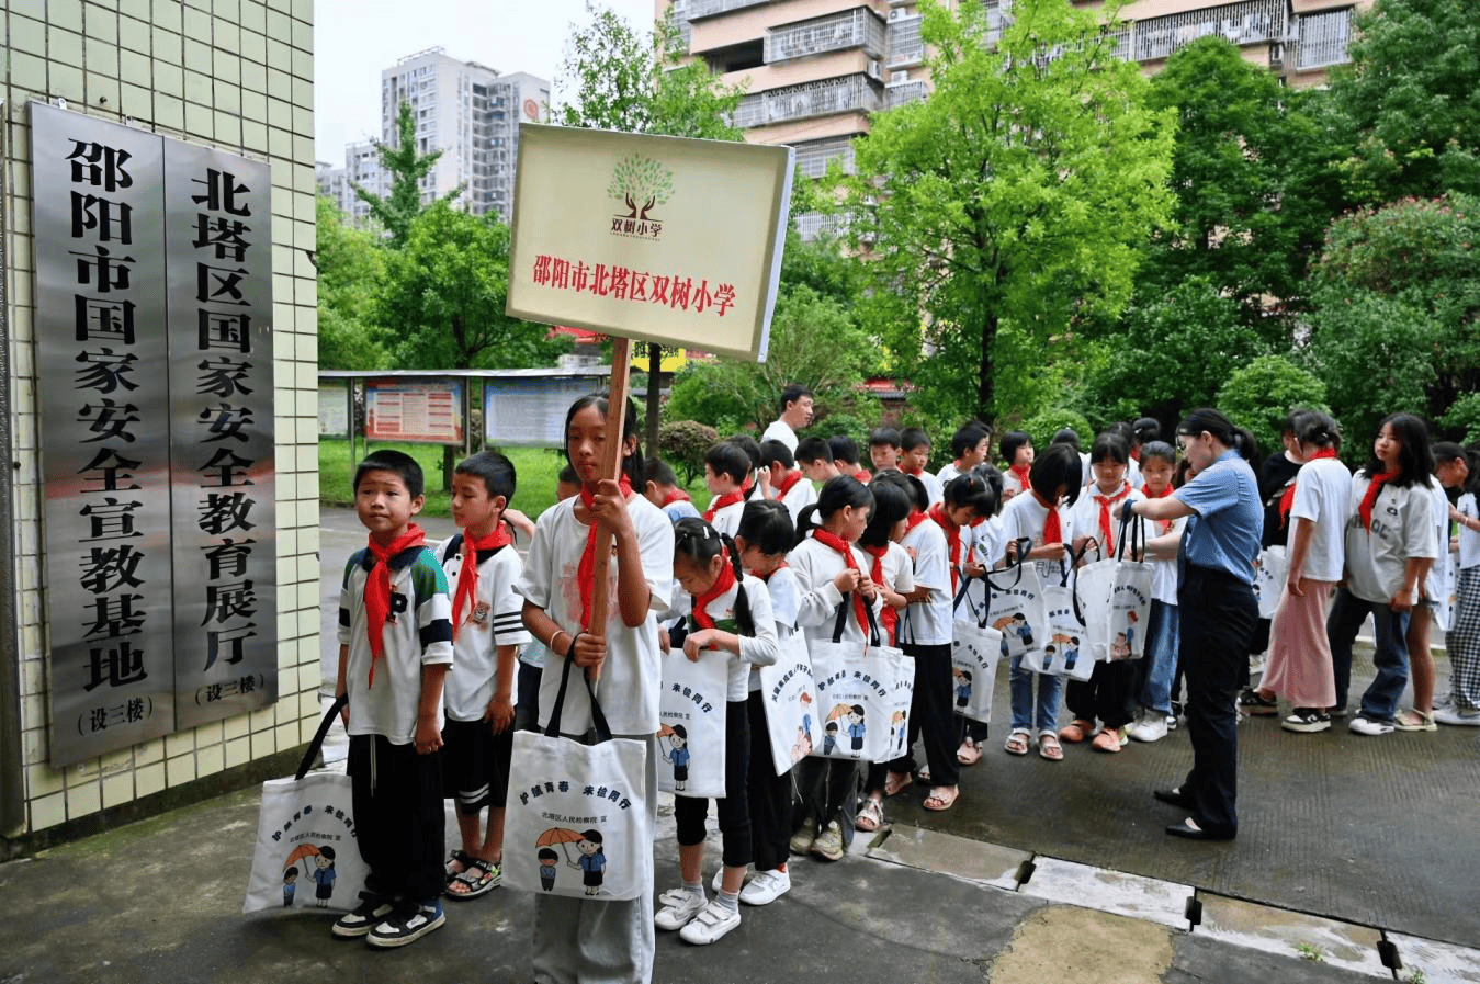
M 1347 589 L 1362 601 L 1387 604 L 1403 589 L 1410 556 L 1439 556 L 1433 503 L 1422 478 L 1406 488 L 1382 485 L 1372 503 L 1372 530 L 1362 527 L 1357 506 L 1368 494 L 1365 471 L 1351 476 L 1351 518 L 1347 521 Z M 1296 493 L 1298 494 L 1298 493 Z

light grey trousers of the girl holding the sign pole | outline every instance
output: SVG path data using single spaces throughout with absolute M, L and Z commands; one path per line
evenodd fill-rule
M 657 818 L 657 738 L 647 746 L 648 817 Z M 653 855 L 642 895 L 632 901 L 534 897 L 534 980 L 537 984 L 650 984 L 657 931 L 653 925 Z

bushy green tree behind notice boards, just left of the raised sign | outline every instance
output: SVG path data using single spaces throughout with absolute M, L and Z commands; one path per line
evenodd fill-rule
M 564 343 L 505 315 L 509 228 L 438 201 L 411 220 L 376 296 L 380 340 L 401 368 L 551 365 Z

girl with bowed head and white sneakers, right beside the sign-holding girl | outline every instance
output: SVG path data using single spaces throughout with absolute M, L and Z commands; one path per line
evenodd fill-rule
M 684 656 L 697 661 L 703 650 L 730 653 L 725 690 L 725 795 L 715 801 L 724 836 L 724 876 L 719 894 L 704 897 L 704 826 L 709 801 L 679 793 L 673 801 L 678 821 L 678 867 L 684 885 L 659 897 L 653 917 L 659 929 L 678 929 L 685 943 L 715 943 L 740 925 L 740 888 L 750 864 L 750 814 L 746 808 L 746 772 L 750 758 L 750 667 L 776 663 L 776 624 L 771 595 L 740 567 L 740 552 L 703 519 L 673 524 L 673 579 L 693 598 Z M 758 762 L 765 768 L 770 759 Z

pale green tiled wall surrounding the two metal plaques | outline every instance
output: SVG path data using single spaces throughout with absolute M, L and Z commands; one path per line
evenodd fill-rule
M 15 435 L 15 582 L 27 832 L 312 737 L 318 650 L 318 336 L 312 0 L 3 0 L 0 216 Z M 28 101 L 272 166 L 278 703 L 58 771 L 47 758 Z

